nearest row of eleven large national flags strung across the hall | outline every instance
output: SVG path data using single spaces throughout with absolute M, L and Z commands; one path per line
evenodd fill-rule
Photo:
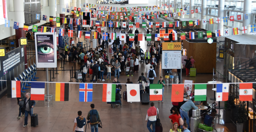
M 239 83 L 239 100 L 252 101 L 252 83 Z M 100 85 L 100 84 L 99 84 Z M 140 84 L 127 84 L 127 102 L 140 102 Z M 195 101 L 206 100 L 207 84 L 194 84 Z M 162 99 L 162 84 L 150 84 L 150 100 Z M 216 101 L 227 101 L 229 83 L 217 84 Z M 184 84 L 172 84 L 172 102 L 182 102 Z M 44 100 L 45 82 L 31 82 L 31 100 Z M 21 97 L 21 81 L 7 81 L 7 97 Z M 116 84 L 105 83 L 102 87 L 102 101 L 115 102 Z M 69 83 L 55 83 L 55 101 L 69 101 Z M 79 102 L 93 101 L 93 84 L 79 83 Z

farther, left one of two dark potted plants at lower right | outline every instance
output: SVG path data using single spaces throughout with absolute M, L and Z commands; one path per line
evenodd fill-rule
M 225 123 L 231 123 L 231 118 L 232 118 L 232 109 L 234 109 L 235 106 L 235 98 L 236 95 L 234 93 L 230 93 L 228 96 L 228 100 L 226 101 L 226 110 L 224 109 L 223 111 L 223 117 L 224 117 L 224 122 Z

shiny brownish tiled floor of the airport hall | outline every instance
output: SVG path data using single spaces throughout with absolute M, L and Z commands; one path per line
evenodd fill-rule
M 109 32 L 111 33 L 113 30 Z M 118 36 L 120 30 L 117 30 L 117 33 Z M 149 49 L 144 41 L 140 41 L 138 46 L 141 46 L 144 51 Z M 109 54 L 109 56 L 111 56 L 111 54 Z M 74 63 L 66 62 L 65 69 L 71 69 L 73 65 Z M 75 69 L 80 68 L 80 65 L 77 65 L 77 63 L 75 63 L 75 66 Z M 144 66 L 144 63 L 140 63 L 139 73 L 134 73 L 133 77 L 127 77 L 124 72 L 122 72 L 118 81 L 126 83 L 126 79 L 130 78 L 131 81 L 136 83 L 140 73 L 144 72 Z M 61 69 L 59 67 L 61 67 L 60 61 L 58 61 L 58 70 Z M 43 70 L 43 68 L 39 69 Z M 58 73 L 59 74 L 54 74 L 55 79 L 52 79 L 52 81 L 68 82 L 70 80 L 70 71 L 58 71 Z M 158 81 L 162 74 L 160 68 L 156 69 L 156 73 L 157 78 L 154 82 Z M 177 73 L 174 74 L 177 75 Z M 39 77 L 39 79 L 37 79 L 38 81 L 46 81 L 45 71 L 38 71 L 37 77 Z M 89 78 L 86 79 L 89 80 Z M 104 79 L 106 80 L 106 77 L 104 77 Z M 111 81 L 98 81 L 98 83 L 112 83 L 113 79 L 114 76 L 112 76 Z M 185 73 L 182 73 L 182 79 L 194 80 L 195 83 L 207 83 L 208 81 L 212 81 L 212 74 L 198 74 L 196 77 L 185 77 Z M 75 82 L 75 79 L 72 80 Z M 210 100 L 210 97 L 213 97 L 212 88 L 214 88 L 213 85 L 207 85 L 207 101 L 210 104 L 213 102 Z M 153 102 L 155 103 L 155 107 L 159 108 L 159 118 L 163 126 L 163 132 L 168 132 L 169 129 L 172 128 L 172 124 L 168 118 L 170 109 L 172 108 L 171 86 L 166 86 L 164 89 L 164 103 Z M 122 85 L 122 91 L 124 90 L 126 90 L 126 87 Z M 30 92 L 30 89 L 26 91 Z M 17 119 L 19 108 L 17 99 L 4 96 L 0 100 L 0 132 L 71 132 L 74 126 L 74 120 L 77 117 L 77 111 L 81 110 L 83 112 L 82 115 L 86 116 L 88 111 L 91 110 L 90 104 L 92 103 L 95 104 L 95 109 L 100 113 L 103 125 L 103 128 L 99 128 L 100 132 L 148 132 L 145 118 L 150 105 L 141 105 L 140 102 L 130 104 L 130 102 L 122 100 L 122 106 L 113 109 L 110 104 L 102 102 L 102 84 L 96 83 L 93 85 L 93 102 L 79 102 L 79 84 L 77 83 L 70 84 L 69 92 L 69 101 L 56 102 L 55 84 L 49 83 L 49 93 L 53 95 L 53 105 L 47 107 L 44 105 L 43 101 L 36 101 L 34 113 L 38 114 L 39 125 L 31 127 L 29 117 L 29 124 L 25 128 L 23 127 L 24 117 Z M 224 106 L 224 103 L 221 103 L 221 106 Z M 222 110 L 220 110 L 220 114 L 222 115 Z M 216 129 L 218 132 L 236 131 L 235 125 L 231 123 L 224 124 L 222 116 L 217 119 Z M 87 131 L 90 131 L 90 129 L 88 130 L 87 128 Z

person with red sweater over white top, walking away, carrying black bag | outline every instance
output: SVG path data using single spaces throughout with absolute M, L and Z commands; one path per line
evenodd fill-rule
M 155 107 L 154 102 L 150 103 L 150 108 L 147 111 L 147 116 L 146 116 L 146 122 L 147 123 L 147 128 L 149 130 L 149 132 L 155 132 L 155 128 L 156 128 L 156 122 L 157 122 L 157 114 L 159 113 L 159 110 Z M 152 128 L 150 128 L 152 124 Z

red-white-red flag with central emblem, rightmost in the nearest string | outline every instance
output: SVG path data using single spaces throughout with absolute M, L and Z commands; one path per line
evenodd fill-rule
M 252 83 L 240 83 L 239 85 L 239 101 L 252 101 Z

